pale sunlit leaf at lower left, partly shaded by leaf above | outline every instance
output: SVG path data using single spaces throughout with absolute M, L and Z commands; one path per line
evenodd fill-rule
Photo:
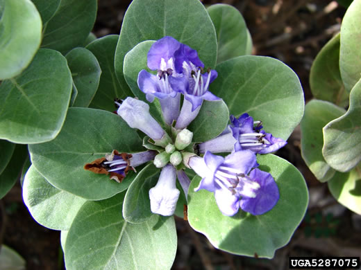
M 26 172 L 23 199 L 33 218 L 53 230 L 68 230 L 86 201 L 51 186 L 34 166 Z

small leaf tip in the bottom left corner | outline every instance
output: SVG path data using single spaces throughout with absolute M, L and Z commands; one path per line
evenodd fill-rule
M 16 251 L 2 244 L 0 247 L 1 270 L 25 270 L 25 260 Z

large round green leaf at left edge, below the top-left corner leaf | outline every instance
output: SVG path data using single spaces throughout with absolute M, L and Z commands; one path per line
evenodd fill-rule
M 64 123 L 71 91 L 65 57 L 39 50 L 21 75 L 0 85 L 0 138 L 14 143 L 51 141 Z

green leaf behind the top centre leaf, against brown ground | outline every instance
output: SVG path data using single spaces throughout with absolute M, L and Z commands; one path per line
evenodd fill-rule
M 246 22 L 237 8 L 216 4 L 207 8 L 207 11 L 216 29 L 217 64 L 233 57 L 250 55 L 252 39 L 248 34 Z

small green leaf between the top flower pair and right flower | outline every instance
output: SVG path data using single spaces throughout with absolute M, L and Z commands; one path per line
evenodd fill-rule
M 187 129 L 193 132 L 193 142 L 208 141 L 226 129 L 229 112 L 223 100 L 203 101 L 201 111 Z

